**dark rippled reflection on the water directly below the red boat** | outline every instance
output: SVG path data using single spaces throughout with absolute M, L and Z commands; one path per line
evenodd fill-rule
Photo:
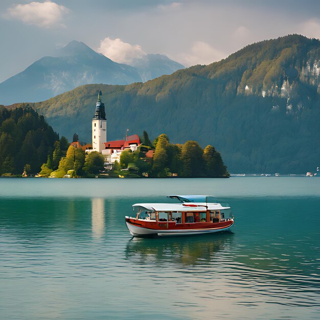
M 132 238 L 127 243 L 126 259 L 139 264 L 152 261 L 181 265 L 208 263 L 220 250 L 228 250 L 232 242 L 232 232 L 156 239 Z

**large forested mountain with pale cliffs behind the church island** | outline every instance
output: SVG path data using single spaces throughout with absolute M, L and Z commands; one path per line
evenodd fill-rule
M 90 84 L 33 107 L 68 138 L 90 141 L 102 90 L 107 138 L 125 130 L 214 145 L 230 172 L 305 173 L 320 162 L 320 41 L 289 35 L 146 83 Z

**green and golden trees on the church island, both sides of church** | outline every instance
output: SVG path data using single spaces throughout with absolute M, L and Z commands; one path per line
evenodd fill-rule
M 64 138 L 65 139 L 65 138 Z M 229 173 L 220 153 L 208 145 L 203 150 L 196 141 L 184 145 L 171 144 L 166 134 L 151 143 L 144 131 L 142 144 L 137 150 L 122 151 L 120 163 L 105 169 L 105 158 L 93 151 L 85 154 L 81 148 L 69 145 L 66 140 L 55 142 L 47 162 L 41 166 L 41 177 L 217 177 L 227 178 Z M 66 152 L 65 152 L 66 151 Z M 148 156 L 148 154 L 151 156 Z

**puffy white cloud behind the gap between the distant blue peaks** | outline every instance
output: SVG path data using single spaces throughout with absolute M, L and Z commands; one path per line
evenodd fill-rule
M 123 42 L 120 38 L 112 40 L 109 37 L 100 41 L 98 52 L 113 61 L 126 64 L 130 64 L 135 59 L 140 59 L 146 55 L 138 44 L 132 45 Z

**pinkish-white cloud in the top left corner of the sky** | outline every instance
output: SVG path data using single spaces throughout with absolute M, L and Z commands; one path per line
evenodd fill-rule
M 26 25 L 43 28 L 64 26 L 62 18 L 69 10 L 54 2 L 31 2 L 26 5 L 13 5 L 7 10 L 7 17 L 23 21 Z

